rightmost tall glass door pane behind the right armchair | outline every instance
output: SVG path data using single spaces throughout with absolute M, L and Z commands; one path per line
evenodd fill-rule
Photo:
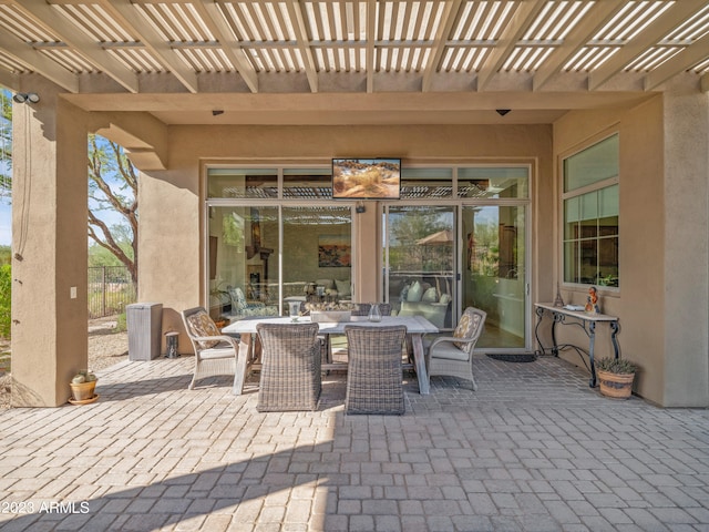
M 477 347 L 524 348 L 524 206 L 463 206 L 462 308 L 487 313 Z

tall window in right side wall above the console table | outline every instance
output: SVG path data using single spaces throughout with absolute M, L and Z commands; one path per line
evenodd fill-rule
M 618 287 L 618 135 L 564 160 L 564 282 Z

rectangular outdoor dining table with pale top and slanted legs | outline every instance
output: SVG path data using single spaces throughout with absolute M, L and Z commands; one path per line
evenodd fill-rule
M 227 325 L 222 329 L 223 334 L 240 335 L 239 355 L 236 364 L 236 386 L 235 389 L 239 390 L 244 388 L 244 379 L 246 378 L 247 361 L 251 356 L 251 348 L 256 336 L 256 326 L 258 324 L 309 324 L 309 316 L 301 316 L 296 321 L 290 317 L 280 318 L 249 318 L 235 321 Z M 367 316 L 352 316 L 350 321 L 320 321 L 318 324 L 320 329 L 319 335 L 343 335 L 345 327 L 347 326 L 360 326 L 360 327 L 389 327 L 395 325 L 404 325 L 407 327 L 407 336 L 411 339 L 411 346 L 413 348 L 413 365 L 419 381 L 419 392 L 421 395 L 429 393 L 429 376 L 425 369 L 425 354 L 423 352 L 423 335 L 435 334 L 439 331 L 438 327 L 423 316 L 383 316 L 381 321 L 369 321 Z M 323 365 L 323 369 L 328 369 L 330 366 Z M 342 366 L 342 365 L 340 365 Z

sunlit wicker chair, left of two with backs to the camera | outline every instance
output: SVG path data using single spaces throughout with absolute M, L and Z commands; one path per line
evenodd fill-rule
M 258 324 L 259 412 L 316 410 L 322 390 L 318 324 Z

